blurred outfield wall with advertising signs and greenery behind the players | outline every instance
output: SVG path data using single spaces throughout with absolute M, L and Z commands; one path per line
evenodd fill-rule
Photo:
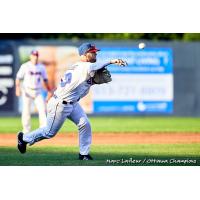
M 200 116 L 199 40 L 197 33 L 0 34 L 0 115 L 21 112 L 14 80 L 31 50 L 40 52 L 53 89 L 78 61 L 78 46 L 92 42 L 101 49 L 99 60 L 121 58 L 129 66 L 110 66 L 113 81 L 91 87 L 80 102 L 88 114 Z

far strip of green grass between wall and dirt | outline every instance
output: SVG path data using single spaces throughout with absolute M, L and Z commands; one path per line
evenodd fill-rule
M 189 117 L 89 117 L 93 132 L 199 132 L 200 118 Z M 38 118 L 32 118 L 32 129 Z M 0 133 L 16 133 L 22 129 L 19 117 L 0 118 Z M 66 120 L 60 132 L 75 132 L 76 126 Z

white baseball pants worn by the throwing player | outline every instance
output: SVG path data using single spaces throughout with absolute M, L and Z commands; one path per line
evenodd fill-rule
M 23 140 L 30 145 L 43 139 L 54 137 L 66 119 L 73 121 L 79 131 L 79 151 L 87 155 L 90 150 L 92 133 L 90 122 L 79 103 L 63 104 L 52 97 L 47 105 L 47 126 L 24 134 Z

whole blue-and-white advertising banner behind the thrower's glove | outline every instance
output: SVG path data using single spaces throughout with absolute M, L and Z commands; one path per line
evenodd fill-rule
M 94 86 L 94 113 L 172 113 L 173 60 L 169 48 L 102 48 L 99 60 L 121 58 L 127 67 L 108 67 L 113 81 Z

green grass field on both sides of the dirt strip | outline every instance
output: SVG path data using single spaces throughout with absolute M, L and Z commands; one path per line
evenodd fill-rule
M 200 134 L 199 118 L 176 117 L 90 117 L 93 132 L 133 133 L 149 132 Z M 38 126 L 32 118 L 33 128 Z M 20 118 L 0 118 L 0 133 L 16 134 L 21 130 Z M 76 126 L 66 121 L 60 132 L 77 132 Z M 41 142 L 42 143 L 42 142 Z M 200 165 L 200 143 L 187 144 L 127 144 L 92 145 L 94 161 L 78 161 L 78 146 L 32 146 L 21 155 L 15 146 L 0 147 L 2 166 L 158 166 Z

